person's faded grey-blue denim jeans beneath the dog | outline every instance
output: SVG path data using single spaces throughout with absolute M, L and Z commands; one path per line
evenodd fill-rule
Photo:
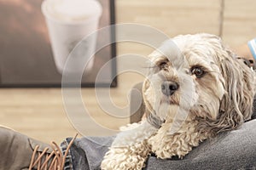
M 145 169 L 256 169 L 256 120 L 237 130 L 221 133 L 195 147 L 182 160 L 149 156 Z M 70 150 L 73 169 L 96 170 L 114 137 L 76 139 Z M 67 139 L 67 142 L 70 139 Z

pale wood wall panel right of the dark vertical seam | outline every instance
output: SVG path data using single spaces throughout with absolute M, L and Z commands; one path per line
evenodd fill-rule
M 256 1 L 225 0 L 224 2 L 224 42 L 236 47 L 256 37 Z

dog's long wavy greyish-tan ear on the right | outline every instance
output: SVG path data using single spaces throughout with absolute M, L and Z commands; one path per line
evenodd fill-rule
M 220 101 L 218 132 L 231 130 L 251 118 L 255 90 L 254 72 L 229 49 L 219 56 L 226 93 Z

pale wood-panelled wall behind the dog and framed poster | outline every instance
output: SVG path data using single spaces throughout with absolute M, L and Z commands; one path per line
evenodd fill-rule
M 221 35 L 224 42 L 231 47 L 256 37 L 255 0 L 116 0 L 115 4 L 117 23 L 153 26 L 169 37 L 208 32 Z M 154 38 L 154 35 L 147 33 L 143 36 Z M 118 55 L 147 56 L 152 48 L 143 44 L 122 42 L 118 44 L 117 50 Z M 118 67 L 135 64 L 143 67 L 144 63 L 140 62 L 142 61 L 119 61 Z M 143 76 L 128 72 L 120 74 L 118 80 L 119 87 L 111 89 L 110 94 L 115 105 L 125 107 L 128 105 L 129 90 L 137 82 L 142 82 Z M 67 115 L 61 88 L 0 89 L 0 124 L 44 142 L 61 142 L 81 128 L 86 131 L 83 132 L 86 135 L 108 135 L 102 129 L 118 129 L 129 122 L 129 117 L 118 119 L 105 113 L 97 104 L 94 88 L 83 88 L 81 94 L 90 115 L 80 117 Z M 107 100 L 103 103 L 108 103 Z M 74 121 L 80 121 L 80 124 Z M 100 127 L 92 126 L 91 121 Z

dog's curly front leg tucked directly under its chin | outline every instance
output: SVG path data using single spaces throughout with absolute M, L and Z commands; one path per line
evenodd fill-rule
M 160 127 L 156 135 L 148 139 L 152 152 L 161 159 L 172 156 L 183 157 L 202 140 L 207 139 L 206 134 L 195 132 L 197 122 L 184 122 L 176 133 L 170 133 L 172 122 L 166 122 Z

